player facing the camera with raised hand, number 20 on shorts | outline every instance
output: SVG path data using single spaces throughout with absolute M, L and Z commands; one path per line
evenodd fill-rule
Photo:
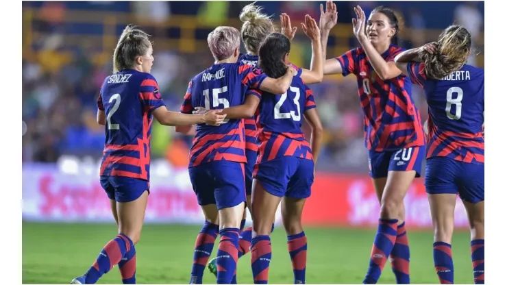
M 352 19 L 352 25 L 361 47 L 327 60 L 324 74 L 354 73 L 364 111 L 365 144 L 370 176 L 380 201 L 380 219 L 363 283 L 375 284 L 391 255 L 397 284 L 408 284 L 410 251 L 404 227 L 404 197 L 414 177 L 421 173 L 423 127 L 412 101 L 410 79 L 393 62 L 402 51 L 397 46 L 399 17 L 381 6 L 367 21 L 359 6 L 354 10 L 357 18 Z

